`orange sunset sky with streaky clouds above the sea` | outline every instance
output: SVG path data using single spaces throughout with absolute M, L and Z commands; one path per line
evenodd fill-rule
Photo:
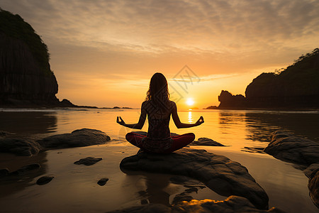
M 254 77 L 319 43 L 312 0 L 2 0 L 0 7 L 42 36 L 57 97 L 78 105 L 140 107 L 155 72 L 167 77 L 180 109 L 189 97 L 200 109 L 218 105 L 222 89 L 245 94 Z M 192 84 L 180 79 L 185 65 Z

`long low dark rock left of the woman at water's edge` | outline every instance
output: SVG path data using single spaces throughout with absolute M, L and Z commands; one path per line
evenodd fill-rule
M 111 138 L 103 131 L 96 129 L 78 129 L 72 133 L 48 136 L 38 141 L 45 148 L 68 148 L 103 144 Z

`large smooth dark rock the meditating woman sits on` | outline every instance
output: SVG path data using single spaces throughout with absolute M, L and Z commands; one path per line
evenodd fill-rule
M 183 148 L 170 154 L 140 152 L 124 158 L 121 169 L 184 175 L 200 180 L 220 195 L 246 197 L 258 209 L 267 209 L 268 196 L 247 168 L 223 155 Z

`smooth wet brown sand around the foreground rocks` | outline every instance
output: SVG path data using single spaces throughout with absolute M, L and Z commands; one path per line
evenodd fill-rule
M 134 172 L 125 174 L 119 168 L 121 160 L 135 155 L 138 148 L 124 141 L 46 151 L 33 157 L 1 154 L 0 168 L 13 171 L 22 165 L 40 163 L 37 174 L 27 175 L 18 182 L 1 180 L 0 205 L 3 212 L 106 212 L 125 207 L 154 202 L 169 205 L 175 195 L 186 190 L 172 183 L 173 175 Z M 318 212 L 308 195 L 308 178 L 292 164 L 284 163 L 270 155 L 245 153 L 232 147 L 192 146 L 192 148 L 225 155 L 245 165 L 252 177 L 269 196 L 269 207 L 286 212 Z M 74 165 L 80 158 L 103 158 L 90 166 Z M 281 171 L 285 171 L 282 173 Z M 55 178 L 47 185 L 35 182 L 43 175 Z M 29 176 L 29 177 L 28 177 Z M 106 185 L 99 179 L 109 178 Z M 197 184 L 201 184 L 201 182 Z M 208 187 L 191 194 L 194 199 L 225 200 Z

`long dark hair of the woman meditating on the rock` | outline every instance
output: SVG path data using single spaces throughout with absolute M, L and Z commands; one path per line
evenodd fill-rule
M 167 107 L 169 91 L 166 77 L 162 73 L 156 72 L 151 80 L 150 87 L 146 93 L 145 101 L 150 101 L 159 108 Z

